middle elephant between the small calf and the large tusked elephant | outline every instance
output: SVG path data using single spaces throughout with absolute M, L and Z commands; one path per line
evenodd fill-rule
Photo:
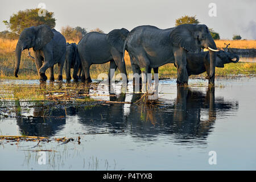
M 119 71 L 127 76 L 125 62 L 123 57 L 123 44 L 129 31 L 125 28 L 115 29 L 109 34 L 99 32 L 89 32 L 77 44 L 77 50 L 85 74 L 85 81 L 92 82 L 90 78 L 90 65 L 103 64 L 110 61 L 109 80 L 113 77 L 110 75 L 110 69 Z M 83 74 L 83 73 L 82 73 Z M 82 81 L 84 81 L 82 75 Z

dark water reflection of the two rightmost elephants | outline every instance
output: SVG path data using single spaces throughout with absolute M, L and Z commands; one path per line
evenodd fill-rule
M 132 102 L 141 95 L 134 94 Z M 237 110 L 237 101 L 224 101 L 214 96 L 214 88 L 207 93 L 191 90 L 187 86 L 177 87 L 174 104 L 137 105 L 131 107 L 127 120 L 133 132 L 139 137 L 160 133 L 176 134 L 178 138 L 191 139 L 207 137 L 216 121 L 216 115 L 228 110 Z M 203 121 L 203 118 L 205 121 Z

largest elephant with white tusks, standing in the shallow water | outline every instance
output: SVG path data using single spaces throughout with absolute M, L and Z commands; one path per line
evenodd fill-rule
M 130 31 L 123 52 L 129 52 L 134 73 L 172 63 L 177 65 L 177 84 L 188 82 L 187 53 L 200 52 L 200 48 L 217 49 L 208 27 L 204 24 L 181 24 L 165 30 L 154 26 L 139 26 Z M 214 84 L 216 52 L 209 51 L 209 80 Z

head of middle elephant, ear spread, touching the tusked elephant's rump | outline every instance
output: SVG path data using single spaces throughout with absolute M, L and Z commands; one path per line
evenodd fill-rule
M 125 43 L 128 34 L 129 31 L 125 28 L 114 29 L 109 32 L 107 39 L 110 45 L 116 48 L 119 52 L 123 52 L 123 44 Z

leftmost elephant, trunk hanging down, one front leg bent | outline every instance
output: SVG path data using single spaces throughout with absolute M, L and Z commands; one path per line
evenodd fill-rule
M 53 66 L 58 64 L 58 80 L 62 81 L 62 69 L 65 61 L 66 40 L 60 32 L 43 24 L 36 27 L 25 28 L 16 45 L 16 63 L 14 75 L 18 77 L 20 56 L 24 49 L 33 48 L 36 69 L 40 81 L 46 81 L 46 70 L 50 68 L 50 81 L 54 81 Z

